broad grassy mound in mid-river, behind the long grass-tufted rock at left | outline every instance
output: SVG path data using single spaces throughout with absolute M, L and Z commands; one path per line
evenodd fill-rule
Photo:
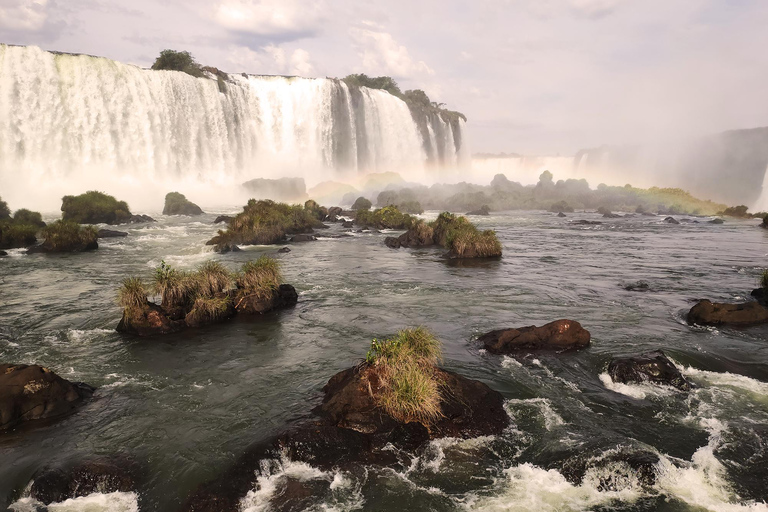
M 309 203 L 309 201 L 308 201 Z M 314 201 L 312 201 L 315 205 Z M 286 234 L 310 233 L 322 223 L 315 216 L 315 211 L 299 205 L 276 203 L 269 199 L 257 201 L 251 199 L 233 218 L 229 227 L 208 241 L 216 251 L 231 250 L 235 245 L 276 244 L 285 239 Z

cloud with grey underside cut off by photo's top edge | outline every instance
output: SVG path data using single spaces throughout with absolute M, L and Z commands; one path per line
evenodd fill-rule
M 317 34 L 324 12 L 318 0 L 222 0 L 214 19 L 233 32 L 290 40 Z

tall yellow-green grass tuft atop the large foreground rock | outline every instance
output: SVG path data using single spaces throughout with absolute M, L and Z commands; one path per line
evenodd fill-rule
M 429 425 L 440 417 L 442 402 L 437 379 L 441 358 L 440 341 L 423 327 L 404 329 L 395 337 L 373 340 L 366 356 L 376 382 L 374 398 L 379 407 L 394 419 Z

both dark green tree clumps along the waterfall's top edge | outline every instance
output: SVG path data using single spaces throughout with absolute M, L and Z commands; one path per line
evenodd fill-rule
M 182 71 L 196 78 L 202 78 L 207 76 L 207 74 L 210 74 L 218 81 L 219 90 L 221 92 L 226 92 L 227 90 L 226 81 L 229 80 L 229 75 L 227 75 L 227 73 L 211 66 L 203 66 L 199 64 L 192 54 L 187 51 L 163 50 L 152 64 L 152 69 Z M 389 76 L 371 77 L 364 73 L 359 73 L 347 75 L 341 80 L 346 83 L 348 87 L 367 87 L 369 89 L 387 91 L 392 96 L 403 100 L 406 105 L 408 105 L 411 113 L 414 114 L 415 119 L 437 115 L 440 116 L 444 122 L 451 125 L 458 123 L 459 119 L 465 122 L 467 120 L 467 117 L 461 112 L 448 110 L 444 108 L 444 103 L 430 100 L 427 93 L 421 89 L 412 89 L 405 92 L 401 91 L 397 82 Z

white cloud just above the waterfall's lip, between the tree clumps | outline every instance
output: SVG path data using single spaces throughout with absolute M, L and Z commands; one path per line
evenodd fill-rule
M 227 61 L 232 65 L 232 69 L 252 74 L 307 77 L 315 75 L 315 67 L 309 52 L 302 48 L 297 48 L 290 55 L 286 55 L 284 48 L 275 45 L 264 46 L 257 50 L 247 46 L 237 46 L 230 49 Z

